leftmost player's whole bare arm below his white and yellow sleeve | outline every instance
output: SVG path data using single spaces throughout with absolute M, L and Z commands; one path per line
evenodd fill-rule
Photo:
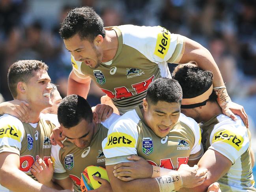
M 11 191 L 19 192 L 55 192 L 41 183 L 38 183 L 26 173 L 19 170 L 19 155 L 11 152 L 0 153 L 0 184 Z

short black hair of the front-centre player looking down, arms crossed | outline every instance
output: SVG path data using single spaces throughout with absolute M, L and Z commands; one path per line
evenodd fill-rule
M 157 104 L 158 101 L 181 103 L 181 86 L 174 79 L 158 78 L 149 84 L 146 100 L 152 104 Z

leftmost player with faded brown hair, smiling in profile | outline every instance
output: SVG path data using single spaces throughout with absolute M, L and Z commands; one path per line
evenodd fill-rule
M 55 125 L 40 113 L 52 106 L 48 66 L 36 60 L 21 60 L 8 71 L 8 86 L 14 99 L 29 106 L 28 123 L 8 114 L 0 117 L 1 191 L 58 191 L 35 181 L 30 167 L 38 156 L 50 162 L 50 133 Z M 52 184 L 52 187 L 59 188 Z M 70 190 L 65 190 L 70 191 Z

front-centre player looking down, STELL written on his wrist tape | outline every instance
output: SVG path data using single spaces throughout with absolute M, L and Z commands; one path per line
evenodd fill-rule
M 125 113 L 111 125 L 102 148 L 114 192 L 170 191 L 192 188 L 204 182 L 206 169 L 197 178 L 198 167 L 185 165 L 189 158 L 196 160 L 202 157 L 203 151 L 197 123 L 180 113 L 181 99 L 182 90 L 176 80 L 158 78 L 149 85 L 143 105 Z M 148 160 L 154 170 L 148 174 L 148 179 L 121 181 L 115 177 L 114 167 L 120 162 L 127 162 L 127 157 L 133 154 Z M 150 164 L 145 164 L 145 167 L 152 170 Z M 194 179 L 183 177 L 186 166 Z M 178 168 L 178 171 L 171 171 Z

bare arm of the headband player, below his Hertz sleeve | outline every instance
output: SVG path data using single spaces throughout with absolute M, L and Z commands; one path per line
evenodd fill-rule
M 213 149 L 208 149 L 206 153 L 204 153 L 203 157 L 199 160 L 198 166 L 199 169 L 207 168 L 208 170 L 207 178 L 204 183 L 192 189 L 182 188 L 179 190 L 180 192 L 186 192 L 188 190 L 192 190 L 194 192 L 206 191 L 209 185 L 218 181 L 228 172 L 232 166 L 232 162 L 221 153 Z

